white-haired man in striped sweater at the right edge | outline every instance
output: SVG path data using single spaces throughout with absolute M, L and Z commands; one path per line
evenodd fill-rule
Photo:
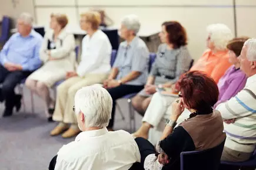
M 222 161 L 247 161 L 256 147 L 256 39 L 244 43 L 238 60 L 247 83 L 240 93 L 216 108 L 227 134 Z

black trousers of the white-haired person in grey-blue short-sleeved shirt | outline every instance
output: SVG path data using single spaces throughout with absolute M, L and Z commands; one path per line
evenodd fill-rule
M 118 87 L 108 89 L 108 93 L 111 95 L 113 100 L 111 120 L 109 121 L 109 124 L 108 124 L 109 128 L 112 128 L 114 126 L 116 100 L 118 98 L 124 97 L 125 95 L 131 94 L 131 93 L 138 93 L 143 88 L 144 86 L 133 86 L 133 85 L 121 84 Z

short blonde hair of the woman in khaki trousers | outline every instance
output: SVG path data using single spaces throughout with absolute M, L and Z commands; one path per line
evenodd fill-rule
M 87 18 L 87 22 L 92 24 L 92 29 L 97 30 L 99 28 L 99 24 L 101 23 L 101 15 L 97 11 L 88 11 L 82 13 L 81 17 Z

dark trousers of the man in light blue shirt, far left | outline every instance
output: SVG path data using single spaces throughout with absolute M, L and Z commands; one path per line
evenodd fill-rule
M 2 88 L 0 89 L 0 101 L 5 101 L 6 109 L 12 109 L 14 107 L 14 89 L 16 85 L 31 73 L 32 72 L 30 71 L 9 72 L 4 66 L 2 66 L 2 64 L 0 64 L 0 84 L 2 84 Z

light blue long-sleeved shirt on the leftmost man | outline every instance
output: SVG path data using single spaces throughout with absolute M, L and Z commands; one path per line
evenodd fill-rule
M 41 66 L 39 50 L 42 44 L 42 36 L 35 30 L 31 30 L 28 36 L 23 37 L 20 33 L 15 33 L 5 43 L 1 53 L 0 62 L 21 64 L 22 70 L 33 71 Z

